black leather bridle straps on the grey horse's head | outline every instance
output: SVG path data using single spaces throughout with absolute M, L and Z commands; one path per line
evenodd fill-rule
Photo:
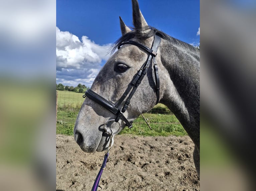
M 135 91 L 137 90 L 138 86 L 140 85 L 142 79 L 147 74 L 147 70 L 148 70 L 151 60 L 153 60 L 154 73 L 155 73 L 156 96 L 157 96 L 156 104 L 159 101 L 160 85 L 159 85 L 158 67 L 157 67 L 157 63 L 155 61 L 155 57 L 157 55 L 156 52 L 160 45 L 160 42 L 161 42 L 161 38 L 157 35 L 154 35 L 154 41 L 153 41 L 151 49 L 148 48 L 147 46 L 145 46 L 141 43 L 135 42 L 135 41 L 124 41 L 118 46 L 118 49 L 120 49 L 120 47 L 124 44 L 132 44 L 132 45 L 138 46 L 140 48 L 143 48 L 144 50 L 146 50 L 149 53 L 149 55 L 148 55 L 147 61 L 142 65 L 140 70 L 137 72 L 136 76 L 130 82 L 130 84 L 128 85 L 128 88 L 126 89 L 124 94 L 121 96 L 121 98 L 119 99 L 119 101 L 116 105 L 114 103 L 108 101 L 101 95 L 95 93 L 91 89 L 88 89 L 85 92 L 85 95 L 83 95 L 83 97 L 84 98 L 88 97 L 88 98 L 92 99 L 96 103 L 102 105 L 103 107 L 105 107 L 106 109 L 108 109 L 109 111 L 114 113 L 117 116 L 115 119 L 115 122 L 118 122 L 120 119 L 122 119 L 126 123 L 128 128 L 132 128 L 132 123 L 128 121 L 128 119 L 123 115 L 123 113 L 126 111 L 128 105 L 130 104 L 130 100 L 131 100 L 132 96 L 134 95 Z M 127 97 L 127 95 L 128 95 L 128 97 Z M 126 99 L 124 105 L 122 106 L 121 104 L 126 97 L 127 97 L 127 99 Z

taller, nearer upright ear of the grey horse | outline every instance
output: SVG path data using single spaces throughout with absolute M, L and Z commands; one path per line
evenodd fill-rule
M 139 3 L 137 0 L 132 0 L 132 17 L 133 25 L 139 32 L 142 32 L 143 29 L 148 27 L 146 20 L 140 12 Z

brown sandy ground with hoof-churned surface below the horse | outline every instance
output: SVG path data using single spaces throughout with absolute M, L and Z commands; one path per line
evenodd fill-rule
M 198 191 L 188 136 L 116 135 L 98 190 Z M 73 136 L 56 135 L 56 190 L 91 190 L 105 152 L 85 153 Z

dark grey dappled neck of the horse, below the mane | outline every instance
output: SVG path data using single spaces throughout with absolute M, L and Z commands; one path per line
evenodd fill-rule
M 161 62 L 166 79 L 161 102 L 176 115 L 189 135 L 199 133 L 200 128 L 199 58 L 196 53 L 163 41 Z

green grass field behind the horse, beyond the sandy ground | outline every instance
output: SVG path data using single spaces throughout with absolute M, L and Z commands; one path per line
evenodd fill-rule
M 73 135 L 73 129 L 79 109 L 84 101 L 83 93 L 58 91 L 58 111 L 56 133 Z M 120 134 L 143 136 L 183 136 L 187 135 L 178 119 L 163 104 L 157 104 L 149 113 L 143 114 L 152 130 L 140 115 L 133 122 L 133 128 L 123 129 Z

